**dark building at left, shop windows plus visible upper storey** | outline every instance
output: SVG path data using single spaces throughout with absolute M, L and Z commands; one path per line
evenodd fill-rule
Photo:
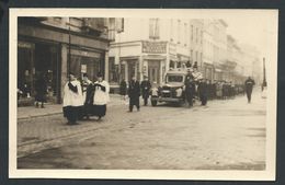
M 35 95 L 35 80 L 44 74 L 48 101 L 61 103 L 67 76 L 88 73 L 95 80 L 109 59 L 109 19 L 19 18 L 18 89 Z M 30 101 L 31 102 L 31 101 Z

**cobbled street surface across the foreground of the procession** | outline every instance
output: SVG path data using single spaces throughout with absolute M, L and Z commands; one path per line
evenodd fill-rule
M 67 126 L 62 115 L 18 124 L 19 169 L 265 170 L 266 100 L 160 104 Z

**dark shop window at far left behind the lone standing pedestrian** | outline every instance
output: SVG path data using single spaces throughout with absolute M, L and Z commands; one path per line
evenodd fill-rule
M 59 45 L 39 41 L 18 43 L 19 104 L 29 104 L 35 95 L 35 81 L 43 76 L 47 84 L 47 101 L 60 101 Z

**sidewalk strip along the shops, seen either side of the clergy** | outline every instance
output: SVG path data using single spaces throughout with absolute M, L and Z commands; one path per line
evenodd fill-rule
M 125 101 L 118 94 L 110 94 L 107 106 L 124 105 Z M 35 108 L 34 106 L 18 107 L 18 120 L 29 119 L 42 116 L 62 114 L 61 104 L 46 104 L 45 108 Z

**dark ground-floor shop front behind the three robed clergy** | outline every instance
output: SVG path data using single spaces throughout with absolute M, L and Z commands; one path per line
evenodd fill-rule
M 47 102 L 59 104 L 69 72 L 79 78 L 88 73 L 93 81 L 98 72 L 105 74 L 109 49 L 105 38 L 21 22 L 18 39 L 19 106 L 34 104 L 35 82 L 39 76 L 44 76 L 47 83 Z

